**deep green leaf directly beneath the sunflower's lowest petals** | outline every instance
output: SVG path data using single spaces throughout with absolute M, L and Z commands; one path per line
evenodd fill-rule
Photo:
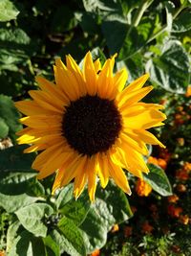
M 69 220 L 74 221 L 75 225 L 81 224 L 88 214 L 90 199 L 87 195 L 84 193 L 77 200 L 71 199 L 59 210 Z

